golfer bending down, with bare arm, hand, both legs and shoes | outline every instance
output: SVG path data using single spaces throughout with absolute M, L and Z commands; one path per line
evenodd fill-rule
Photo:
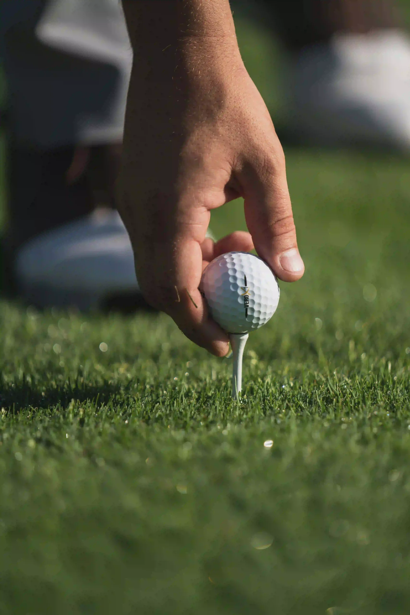
M 282 149 L 240 60 L 227 0 L 123 4 L 131 44 L 117 0 L 3 0 L 0 7 L 10 97 L 7 239 L 15 278 L 33 303 L 97 307 L 115 293 L 140 292 L 135 253 L 148 301 L 168 312 L 188 337 L 223 354 L 226 336 L 208 321 L 197 292 L 202 261 L 231 249 L 249 250 L 254 243 L 280 279 L 292 281 L 303 273 Z M 334 10 L 326 10 L 329 6 Z M 357 6 L 363 10 L 352 10 Z M 408 39 L 390 27 L 381 4 L 376 11 L 369 6 L 368 0 L 267 4 L 299 58 L 294 101 L 301 133 L 328 138 L 328 129 L 313 121 L 327 107 L 326 117 L 340 118 L 333 141 L 356 140 L 360 121 L 370 141 L 394 141 L 382 114 L 374 121 L 371 89 L 357 87 L 360 104 L 353 100 L 350 82 L 360 82 L 363 74 L 366 82 L 374 74 L 390 77 L 387 60 L 399 57 L 404 66 L 408 58 Z M 181 43 L 191 30 L 194 49 Z M 219 42 L 210 45 L 208 33 L 214 30 Z M 119 209 L 133 249 L 114 210 L 131 47 L 134 77 Z M 202 71 L 196 73 L 195 66 Z M 234 73 L 241 77 L 237 82 L 230 78 Z M 379 85 L 383 79 L 374 81 Z M 350 108 L 345 90 L 353 93 L 347 97 L 349 104 L 353 100 Z M 374 88 L 379 97 L 386 88 L 381 90 Z M 219 91 L 232 99 L 224 113 Z M 396 102 L 385 101 L 385 109 L 388 104 L 391 115 Z M 231 135 L 230 143 L 223 133 Z M 204 143 L 210 156 L 205 166 Z M 242 169 L 234 161 L 242 161 Z M 245 197 L 252 237 L 237 233 L 215 245 L 205 237 L 209 211 L 237 196 Z M 104 207 L 95 213 L 96 205 Z

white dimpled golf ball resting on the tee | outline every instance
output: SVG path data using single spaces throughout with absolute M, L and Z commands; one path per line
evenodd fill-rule
M 262 327 L 275 313 L 280 294 L 272 270 L 247 252 L 215 258 L 203 271 L 200 290 L 213 319 L 227 333 Z

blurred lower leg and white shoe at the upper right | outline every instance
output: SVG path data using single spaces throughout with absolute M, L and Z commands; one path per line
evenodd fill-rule
M 291 53 L 299 141 L 410 149 L 410 38 L 389 0 L 262 0 Z

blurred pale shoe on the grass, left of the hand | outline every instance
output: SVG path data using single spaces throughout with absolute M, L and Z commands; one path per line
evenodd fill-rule
M 207 237 L 213 239 L 211 231 Z M 20 296 L 40 308 L 148 307 L 127 230 L 113 210 L 97 210 L 34 237 L 18 252 L 14 272 Z

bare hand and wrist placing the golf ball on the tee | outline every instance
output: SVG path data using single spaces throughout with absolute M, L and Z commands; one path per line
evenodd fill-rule
M 208 2 L 207 7 L 226 5 L 226 0 Z M 218 254 L 254 245 L 280 279 L 293 282 L 304 272 L 285 158 L 243 66 L 230 12 L 224 14 L 231 28 L 227 34 L 226 29 L 221 37 L 189 34 L 175 42 L 173 28 L 181 31 L 181 15 L 172 6 L 179 2 L 142 4 L 168 11 L 165 33 L 171 44 L 167 54 L 167 36 L 160 37 L 159 46 L 152 33 L 146 39 L 141 31 L 135 36 L 119 211 L 148 303 L 167 312 L 189 339 L 223 356 L 227 335 L 208 316 L 198 290 L 203 267 Z M 133 40 L 132 5 L 141 2 L 124 2 Z M 210 212 L 238 196 L 245 201 L 250 234 L 235 232 L 214 245 L 205 239 Z

